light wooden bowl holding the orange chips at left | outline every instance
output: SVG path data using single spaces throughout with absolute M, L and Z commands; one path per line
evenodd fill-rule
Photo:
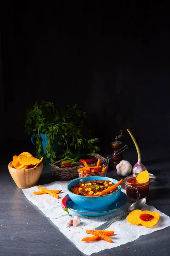
M 11 167 L 11 163 L 12 162 L 8 164 L 8 170 L 17 187 L 20 189 L 28 189 L 37 184 L 42 172 L 43 163 L 35 168 L 25 170 L 15 169 Z

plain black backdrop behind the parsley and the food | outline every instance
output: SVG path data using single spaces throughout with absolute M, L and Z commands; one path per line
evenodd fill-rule
M 169 143 L 170 15 L 163 1 L 2 1 L 0 12 L 1 150 L 33 148 L 24 115 L 42 99 L 56 108 L 77 103 L 102 154 L 112 152 L 120 129 L 124 144 L 133 144 L 127 128 L 141 147 Z

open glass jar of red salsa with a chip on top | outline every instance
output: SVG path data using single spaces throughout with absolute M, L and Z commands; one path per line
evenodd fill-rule
M 149 194 L 150 180 L 146 183 L 138 183 L 136 177 L 137 175 L 133 174 L 125 177 L 124 180 L 126 195 L 132 201 L 147 198 Z

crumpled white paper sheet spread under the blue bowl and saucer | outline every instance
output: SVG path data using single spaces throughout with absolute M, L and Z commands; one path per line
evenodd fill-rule
M 125 204 L 120 210 L 116 211 L 113 214 L 105 215 L 101 217 L 88 217 L 76 214 L 75 212 L 69 210 L 71 217 L 62 209 L 61 201 L 62 198 L 67 194 L 67 185 L 70 181 L 55 181 L 49 184 L 42 185 L 43 187 L 51 190 L 62 190 L 62 193 L 59 194 L 59 199 L 54 198 L 51 195 L 34 195 L 34 191 L 40 191 L 37 186 L 34 186 L 30 189 L 22 189 L 26 198 L 28 198 L 31 203 L 36 205 L 38 209 L 40 209 L 46 217 L 50 218 L 50 220 L 59 228 L 59 230 L 70 239 L 77 248 L 87 255 L 91 255 L 92 253 L 99 252 L 101 250 L 110 249 L 113 247 L 117 247 L 121 244 L 126 244 L 131 241 L 134 241 L 139 238 L 139 236 L 143 236 L 149 233 L 152 233 L 157 230 L 164 229 L 165 227 L 170 226 L 170 217 L 160 212 L 156 208 L 152 206 L 146 205 L 142 210 L 150 210 L 156 211 L 160 214 L 159 222 L 151 227 L 147 228 L 144 226 L 134 226 L 131 225 L 124 217 L 118 218 L 116 221 L 111 224 L 107 230 L 113 230 L 114 236 L 111 237 L 113 239 L 112 243 L 109 243 L 105 240 L 93 241 L 93 242 L 82 242 L 82 238 L 88 235 L 85 230 L 87 229 L 95 229 L 99 225 L 103 224 L 109 218 L 113 218 L 115 215 L 126 212 L 129 207 L 129 203 Z M 122 189 L 122 192 L 125 193 L 125 190 Z M 81 219 L 81 223 L 77 227 L 68 227 L 66 225 L 67 221 L 74 217 L 74 215 L 78 215 Z M 94 246 L 95 243 L 95 246 Z

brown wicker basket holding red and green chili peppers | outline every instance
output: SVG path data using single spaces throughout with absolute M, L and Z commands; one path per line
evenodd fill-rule
M 105 163 L 106 159 L 99 154 L 89 154 L 94 158 L 99 158 L 101 164 Z M 65 167 L 65 168 L 59 168 L 56 164 L 59 164 L 63 161 L 63 159 L 57 161 L 57 162 L 52 162 L 50 163 L 51 169 L 52 169 L 52 175 L 57 177 L 57 180 L 73 180 L 79 177 L 79 174 L 77 172 L 77 168 L 79 166 L 73 166 L 73 167 Z M 91 163 L 89 164 L 91 166 L 96 166 L 96 163 Z

